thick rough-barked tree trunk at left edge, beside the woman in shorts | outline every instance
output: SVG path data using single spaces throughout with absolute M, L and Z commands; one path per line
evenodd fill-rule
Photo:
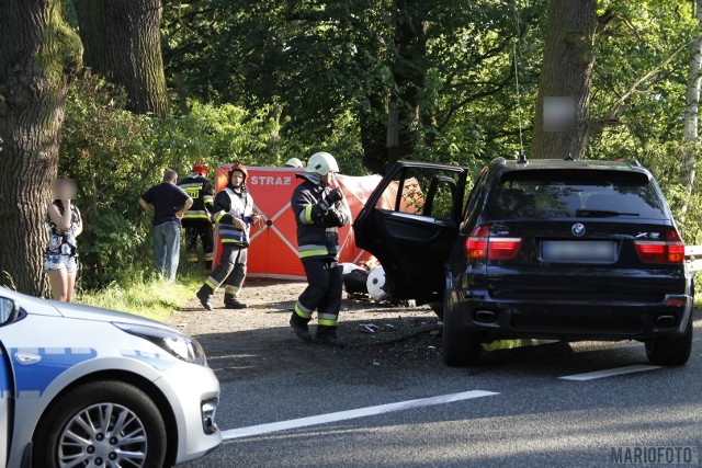
M 46 290 L 44 221 L 78 36 L 60 0 L 0 2 L 0 284 Z

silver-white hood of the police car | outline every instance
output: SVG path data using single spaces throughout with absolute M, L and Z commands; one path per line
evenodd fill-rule
M 42 299 L 27 296 L 0 286 L 0 297 L 7 297 L 18 303 L 26 313 L 37 316 L 66 317 L 70 319 L 94 320 L 101 322 L 123 322 L 138 323 L 148 327 L 171 329 L 155 320 L 133 316 L 131 313 L 117 312 L 115 310 L 102 309 L 100 307 L 84 306 L 81 304 L 60 303 L 56 300 Z

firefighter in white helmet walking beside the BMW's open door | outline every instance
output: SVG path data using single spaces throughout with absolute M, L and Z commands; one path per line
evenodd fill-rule
M 297 224 L 298 255 L 307 276 L 307 288 L 297 299 L 290 324 L 295 334 L 312 341 L 307 323 L 317 310 L 317 342 L 335 347 L 344 343 L 337 335 L 337 320 L 341 308 L 342 266 L 339 265 L 337 228 L 350 220 L 341 204 L 341 189 L 331 190 L 336 159 L 328 152 L 309 157 L 305 172 L 295 174 L 303 182 L 293 192 L 291 207 Z

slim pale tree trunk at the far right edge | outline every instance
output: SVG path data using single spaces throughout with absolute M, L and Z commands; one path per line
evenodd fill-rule
M 702 0 L 695 1 L 694 15 L 702 25 Z M 694 176 L 698 165 L 698 121 L 700 104 L 700 75 L 702 66 L 702 35 L 695 36 L 690 44 L 690 66 L 688 68 L 688 88 L 686 92 L 684 128 L 682 134 L 682 164 L 680 168 L 680 182 L 684 185 L 687 196 L 680 210 L 681 221 L 688 209 L 688 199 L 692 195 Z

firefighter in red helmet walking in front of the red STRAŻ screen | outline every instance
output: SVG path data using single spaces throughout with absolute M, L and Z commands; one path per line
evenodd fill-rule
M 246 187 L 247 176 L 248 171 L 244 164 L 234 164 L 229 170 L 227 186 L 215 197 L 212 220 L 218 228 L 222 256 L 196 294 L 206 310 L 212 310 L 210 299 L 222 284 L 225 284 L 225 308 L 248 307 L 238 297 L 246 278 L 249 229 L 259 215 L 253 213 L 253 198 Z

